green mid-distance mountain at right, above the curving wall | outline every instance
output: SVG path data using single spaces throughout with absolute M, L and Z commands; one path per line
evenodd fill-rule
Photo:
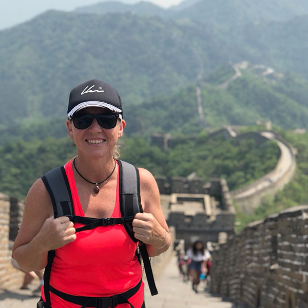
M 231 74 L 229 66 L 208 76 L 207 83 L 201 86 L 204 122 L 200 122 L 197 112 L 196 86 L 191 85 L 171 97 L 148 101 L 138 108 L 137 115 L 129 109 L 126 133 L 187 135 L 204 127 L 255 125 L 258 120 L 271 120 L 285 129 L 308 128 L 307 80 L 293 73 L 263 75 L 266 68 L 254 66 L 240 71 L 241 76 L 226 86 L 223 86 L 224 81 L 235 74 L 235 71 Z

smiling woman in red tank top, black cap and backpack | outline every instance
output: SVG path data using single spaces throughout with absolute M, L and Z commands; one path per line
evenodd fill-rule
M 40 308 L 143 308 L 138 244 L 155 295 L 148 256 L 171 239 L 153 176 L 117 159 L 120 95 L 99 80 L 76 86 L 66 124 L 78 155 L 32 185 L 13 257 L 25 271 L 46 267 Z

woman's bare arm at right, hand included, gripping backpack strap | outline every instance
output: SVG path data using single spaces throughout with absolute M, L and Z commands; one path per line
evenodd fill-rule
M 154 257 L 169 248 L 171 236 L 161 209 L 159 190 L 155 178 L 148 170 L 138 169 L 141 204 L 143 205 L 144 213 L 136 214 L 132 222 L 133 232 L 137 239 L 146 244 L 149 257 Z

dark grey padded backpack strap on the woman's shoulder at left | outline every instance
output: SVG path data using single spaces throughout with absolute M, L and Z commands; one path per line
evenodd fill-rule
M 48 171 L 42 180 L 52 201 L 54 218 L 73 216 L 72 195 L 64 166 Z

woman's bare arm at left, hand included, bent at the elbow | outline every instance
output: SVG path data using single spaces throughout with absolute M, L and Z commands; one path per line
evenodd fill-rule
M 47 264 L 48 251 L 75 240 L 73 223 L 67 217 L 53 218 L 52 203 L 45 185 L 38 179 L 30 188 L 20 231 L 13 245 L 13 258 L 26 272 Z

